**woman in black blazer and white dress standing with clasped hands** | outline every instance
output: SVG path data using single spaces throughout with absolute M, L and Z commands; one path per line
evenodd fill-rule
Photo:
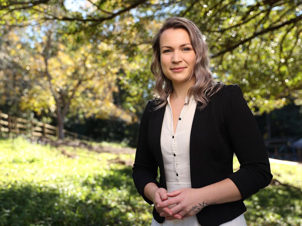
M 133 165 L 138 192 L 154 204 L 151 225 L 246 225 L 243 200 L 272 175 L 241 89 L 213 82 L 204 36 L 188 19 L 165 20 L 152 48 L 156 98 L 143 113 Z

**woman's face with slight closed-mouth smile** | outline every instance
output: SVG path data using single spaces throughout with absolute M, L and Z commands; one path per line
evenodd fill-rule
M 185 29 L 164 30 L 159 39 L 162 71 L 172 83 L 184 83 L 191 77 L 195 52 Z

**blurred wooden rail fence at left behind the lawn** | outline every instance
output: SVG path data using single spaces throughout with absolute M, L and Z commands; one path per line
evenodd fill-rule
M 65 137 L 72 139 L 92 140 L 91 137 L 73 133 L 68 130 L 63 130 L 63 133 Z M 34 122 L 24 118 L 14 117 L 2 113 L 0 110 L 0 135 L 5 137 L 12 134 L 29 134 L 35 137 L 45 136 L 48 138 L 59 138 L 59 129 L 58 127 L 43 122 Z

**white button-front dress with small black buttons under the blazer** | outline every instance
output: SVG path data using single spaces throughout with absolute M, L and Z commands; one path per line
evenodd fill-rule
M 170 105 L 170 95 L 166 105 L 165 115 L 161 131 L 161 149 L 165 169 L 167 191 L 171 192 L 180 188 L 191 188 L 190 176 L 190 133 L 197 102 L 192 95 L 188 102 L 185 98 L 185 105 L 179 115 L 176 131 L 173 131 L 173 115 Z M 169 197 L 168 197 L 169 198 Z M 171 208 L 172 206 L 169 206 Z M 202 210 L 201 210 L 202 211 Z M 196 215 L 185 218 L 184 220 L 164 221 L 158 223 L 154 218 L 151 226 L 200 226 Z M 244 215 L 240 215 L 232 221 L 221 224 L 223 226 L 246 226 Z

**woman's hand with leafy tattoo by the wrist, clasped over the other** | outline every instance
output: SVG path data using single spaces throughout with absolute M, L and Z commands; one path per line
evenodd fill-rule
M 157 207 L 163 208 L 166 206 L 174 205 L 170 210 L 172 214 L 178 213 L 183 217 L 189 217 L 197 214 L 201 209 L 206 206 L 216 203 L 205 203 L 202 188 L 182 188 L 170 193 L 167 196 L 172 197 L 163 202 L 160 202 Z M 171 217 L 167 216 L 166 220 L 172 220 Z

